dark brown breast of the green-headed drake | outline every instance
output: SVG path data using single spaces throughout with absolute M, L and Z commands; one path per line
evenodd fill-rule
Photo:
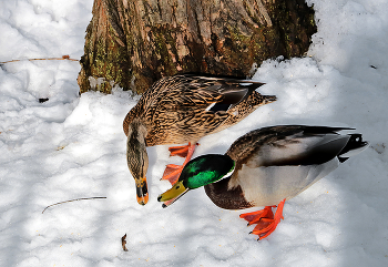
M 232 177 L 233 175 L 216 183 L 205 185 L 206 195 L 221 208 L 242 209 L 252 207 L 253 205 L 245 199 L 239 185 L 228 188 L 228 183 Z

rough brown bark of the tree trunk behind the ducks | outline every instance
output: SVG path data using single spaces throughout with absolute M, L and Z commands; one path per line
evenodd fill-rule
M 142 93 L 176 73 L 247 76 L 303 55 L 315 32 L 305 0 L 94 0 L 78 82 L 81 93 Z

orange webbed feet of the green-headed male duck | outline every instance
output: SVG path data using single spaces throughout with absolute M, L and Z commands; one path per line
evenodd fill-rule
M 262 210 L 245 213 L 239 215 L 239 217 L 246 219 L 248 225 L 256 224 L 251 234 L 257 235 L 258 239 L 266 238 L 276 229 L 276 226 L 278 223 L 280 223 L 280 219 L 283 219 L 283 207 L 285 201 L 286 199 L 283 199 L 279 205 L 277 205 L 275 216 L 272 210 L 272 208 L 275 206 L 266 206 Z

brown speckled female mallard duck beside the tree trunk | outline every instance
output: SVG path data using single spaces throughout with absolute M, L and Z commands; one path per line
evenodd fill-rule
M 171 155 L 186 157 L 182 166 L 169 164 L 163 179 L 174 184 L 191 160 L 197 141 L 239 122 L 259 105 L 276 100 L 255 90 L 264 83 L 233 78 L 175 75 L 154 83 L 126 114 L 127 166 L 135 179 L 141 205 L 149 199 L 146 146 L 183 144 L 170 147 Z

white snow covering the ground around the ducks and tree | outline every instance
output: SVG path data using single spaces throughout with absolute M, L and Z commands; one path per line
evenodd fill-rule
M 274 234 L 257 242 L 241 210 L 217 208 L 203 189 L 163 209 L 156 196 L 170 185 L 159 178 L 182 162 L 167 146 L 149 148 L 151 197 L 140 206 L 122 131 L 139 96 L 116 89 L 80 97 L 78 62 L 23 60 L 0 68 L 0 266 L 388 266 L 388 2 L 308 3 L 318 32 L 307 57 L 267 60 L 254 76 L 278 101 L 195 152 L 224 153 L 246 132 L 276 124 L 364 134 L 370 147 L 286 202 Z M 0 0 L 0 61 L 80 59 L 92 4 Z M 106 198 L 42 214 L 93 196 Z

